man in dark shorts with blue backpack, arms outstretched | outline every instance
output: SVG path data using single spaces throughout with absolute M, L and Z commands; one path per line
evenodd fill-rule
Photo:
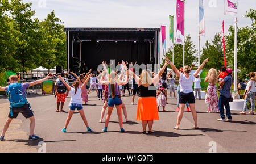
M 0 87 L 0 90 L 7 91 L 8 99 L 10 102 L 10 113 L 3 127 L 1 140 L 4 140 L 5 132 L 9 128 L 11 121 L 13 119 L 16 119 L 19 113 L 22 113 L 22 115 L 26 117 L 26 119 L 30 119 L 30 136 L 28 137 L 28 140 L 36 140 L 39 138 L 39 136 L 36 136 L 34 134 L 35 117 L 31 110 L 30 104 L 27 102 L 26 89 L 30 86 L 42 83 L 43 81 L 46 81 L 48 78 L 49 74 L 45 78 L 39 79 L 31 83 L 19 83 L 18 76 L 11 75 L 9 77 L 11 82 L 10 85 L 6 87 Z

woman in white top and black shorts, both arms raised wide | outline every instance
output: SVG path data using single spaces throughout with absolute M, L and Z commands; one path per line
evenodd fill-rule
M 176 127 L 174 127 L 174 129 L 179 129 L 186 102 L 188 102 L 188 104 L 191 108 L 193 120 L 195 121 L 194 128 L 199 128 L 197 126 L 195 96 L 193 94 L 192 86 L 193 86 L 193 82 L 195 80 L 196 75 L 203 68 L 204 64 L 208 62 L 208 59 L 209 58 L 207 58 L 203 62 L 203 64 L 201 64 L 200 67 L 196 70 L 196 72 L 193 73 L 192 75 L 189 75 L 189 73 L 191 71 L 189 66 L 184 67 L 184 74 L 183 74 L 183 73 L 180 73 L 179 70 L 176 68 L 176 66 L 174 64 L 172 64 L 172 62 L 170 61 L 170 65 L 171 65 L 172 69 L 174 70 L 174 72 L 177 74 L 177 76 L 180 79 L 180 95 L 179 95 L 180 96 L 180 111 L 179 111 L 179 115 L 177 116 L 177 125 L 176 125 Z

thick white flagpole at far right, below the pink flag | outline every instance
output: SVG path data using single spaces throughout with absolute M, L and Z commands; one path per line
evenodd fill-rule
M 237 17 L 234 31 L 234 91 L 237 91 Z

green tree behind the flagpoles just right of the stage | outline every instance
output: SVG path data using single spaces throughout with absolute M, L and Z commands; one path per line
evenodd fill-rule
M 193 44 L 191 36 L 188 34 L 187 37 L 185 38 L 185 65 L 190 66 L 196 61 L 196 56 L 194 55 L 196 52 L 196 46 Z M 166 56 L 170 60 L 172 60 L 171 49 L 168 49 Z M 176 68 L 180 68 L 183 66 L 183 45 L 181 44 L 174 44 L 174 64 Z M 171 68 L 170 65 L 168 65 L 168 68 Z

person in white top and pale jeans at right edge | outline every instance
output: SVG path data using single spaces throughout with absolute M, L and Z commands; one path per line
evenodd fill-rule
M 247 103 L 249 100 L 251 100 L 251 111 L 249 112 L 251 115 L 254 115 L 254 109 L 255 109 L 255 73 L 254 72 L 250 72 L 250 81 L 247 83 L 246 85 L 246 89 L 247 92 L 245 94 L 245 102 L 243 103 L 243 111 L 240 112 L 241 115 L 245 115 L 246 114 L 246 110 L 247 110 Z

